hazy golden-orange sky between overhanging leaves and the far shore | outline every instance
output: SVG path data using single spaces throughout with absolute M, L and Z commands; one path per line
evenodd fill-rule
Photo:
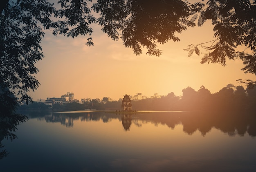
M 184 51 L 189 44 L 213 40 L 213 26 L 208 21 L 203 27 L 189 28 L 181 35 L 180 42 L 159 44 L 160 57 L 143 54 L 136 56 L 123 42 L 111 40 L 100 26 L 92 26 L 94 46 L 86 46 L 87 37 L 74 39 L 45 31 L 42 40 L 43 60 L 37 62 L 36 78 L 40 86 L 29 95 L 37 99 L 61 97 L 73 92 L 75 99 L 110 97 L 122 98 L 124 94 L 142 93 L 148 97 L 158 93 L 182 95 L 182 89 L 191 86 L 198 90 L 205 86 L 216 93 L 227 84 L 241 85 L 236 79 L 254 79 L 253 74 L 244 74 L 240 60 L 227 60 L 221 64 L 200 64 L 201 56 L 188 57 Z M 202 50 L 202 49 L 200 49 Z M 245 87 L 245 85 L 243 85 Z

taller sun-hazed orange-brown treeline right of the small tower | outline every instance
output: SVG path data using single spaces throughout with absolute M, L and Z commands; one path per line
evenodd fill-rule
M 132 101 L 136 110 L 256 110 L 256 88 L 244 89 L 231 84 L 222 88 L 218 93 L 211 92 L 201 86 L 198 91 L 191 87 L 182 90 L 182 97 L 169 93 L 161 98 Z

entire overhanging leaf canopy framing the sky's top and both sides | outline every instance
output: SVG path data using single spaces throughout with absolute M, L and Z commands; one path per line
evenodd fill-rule
M 59 0 L 57 5 L 48 0 L 2 0 L 0 2 L 0 82 L 14 96 L 31 101 L 27 95 L 35 91 L 39 82 L 34 76 L 38 69 L 34 64 L 44 56 L 40 42 L 43 29 L 51 29 L 54 35 L 68 37 L 88 35 L 87 45 L 93 45 L 90 24 L 98 22 L 103 32 L 112 40 L 121 40 L 135 54 L 159 56 L 157 44 L 168 40 L 179 41 L 175 33 L 187 27 L 202 26 L 206 20 L 214 25 L 215 40 L 191 45 L 189 55 L 200 54 L 200 47 L 208 50 L 202 63 L 226 65 L 226 58 L 242 59 L 245 73 L 254 73 L 255 58 L 255 0 L 208 0 L 190 3 L 183 0 Z M 92 11 L 99 13 L 97 19 Z M 118 12 L 117 12 L 118 11 Z M 246 13 L 246 15 L 244 15 Z M 252 53 L 236 52 L 245 45 Z M 253 81 L 249 83 L 255 84 Z M 3 91 L 7 91 L 3 90 Z M 15 91 L 14 91 L 15 90 Z M 16 94 L 17 93 L 17 94 Z M 14 105 L 14 104 L 13 104 Z

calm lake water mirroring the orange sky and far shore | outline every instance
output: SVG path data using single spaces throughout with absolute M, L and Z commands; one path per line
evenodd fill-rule
M 2 140 L 0 171 L 255 172 L 256 120 L 237 116 L 33 112 Z

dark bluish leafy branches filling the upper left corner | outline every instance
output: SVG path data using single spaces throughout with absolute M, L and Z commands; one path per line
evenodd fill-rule
M 8 1 L 7 1 L 8 2 Z M 43 29 L 52 29 L 53 34 L 75 37 L 92 33 L 89 24 L 95 22 L 90 15 L 87 1 L 60 0 L 60 9 L 47 0 L 9 1 L 0 18 L 0 77 L 11 90 L 27 102 L 30 90 L 35 91 L 39 82 L 34 76 L 38 69 L 34 64 L 44 56 L 40 42 Z M 4 2 L 3 2 L 4 3 Z M 54 21 L 55 18 L 62 20 Z M 73 27 L 70 29 L 70 27 Z M 88 38 L 88 45 L 93 45 Z

